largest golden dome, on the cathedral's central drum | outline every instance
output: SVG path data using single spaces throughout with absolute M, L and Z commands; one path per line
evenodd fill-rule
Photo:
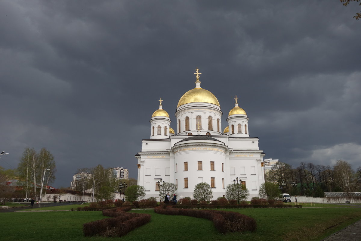
M 219 102 L 210 91 L 202 89 L 202 88 L 195 88 L 193 90 L 187 91 L 179 100 L 178 106 L 187 103 L 194 103 L 194 102 L 204 102 L 204 103 L 211 103 L 219 106 Z

